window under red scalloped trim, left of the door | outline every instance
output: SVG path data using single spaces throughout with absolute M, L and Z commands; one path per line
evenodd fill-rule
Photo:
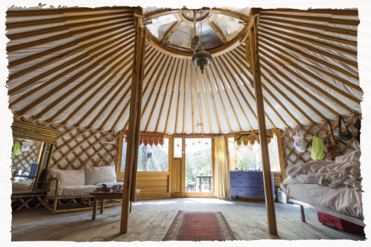
M 124 141 L 122 145 L 121 171 L 125 171 L 126 147 Z M 138 170 L 137 171 L 168 171 L 169 167 L 169 139 L 164 138 L 164 144 L 152 146 L 139 146 L 138 150 Z

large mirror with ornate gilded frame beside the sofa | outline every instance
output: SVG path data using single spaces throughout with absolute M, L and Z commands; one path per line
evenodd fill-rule
M 0 196 L 44 191 L 60 130 L 0 117 Z

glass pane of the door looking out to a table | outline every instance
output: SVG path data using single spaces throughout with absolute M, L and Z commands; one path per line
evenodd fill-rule
M 211 138 L 186 138 L 185 192 L 213 192 Z

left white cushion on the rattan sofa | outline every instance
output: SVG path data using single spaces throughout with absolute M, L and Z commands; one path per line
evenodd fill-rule
M 49 178 L 59 178 L 59 187 L 85 185 L 85 170 L 50 169 Z M 56 189 L 56 180 L 51 180 L 50 191 Z

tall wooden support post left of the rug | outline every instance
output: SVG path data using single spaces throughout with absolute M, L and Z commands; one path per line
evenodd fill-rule
M 128 143 L 126 148 L 124 194 L 122 195 L 120 233 L 128 232 L 130 205 L 131 201 L 135 201 L 140 116 L 142 113 L 142 86 L 145 70 L 145 28 L 142 24 L 142 17 L 135 17 L 134 24 L 136 35 L 133 56 L 133 78 L 131 83 L 129 130 L 127 133 Z

